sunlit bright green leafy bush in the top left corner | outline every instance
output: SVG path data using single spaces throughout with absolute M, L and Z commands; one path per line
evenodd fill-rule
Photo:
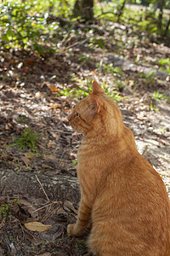
M 44 42 L 48 41 L 49 36 L 53 38 L 54 31 L 59 25 L 57 22 L 48 24 L 48 13 L 40 9 L 36 15 L 34 4 L 4 1 L 0 10 L 1 46 L 6 49 L 11 47 L 33 49 L 39 55 L 45 55 L 47 50 L 55 51 L 50 47 L 45 48 Z

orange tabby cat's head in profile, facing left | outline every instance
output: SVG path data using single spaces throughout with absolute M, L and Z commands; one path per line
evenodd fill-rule
M 96 81 L 92 93 L 76 104 L 68 120 L 76 131 L 89 137 L 106 133 L 118 136 L 122 131 L 120 109 Z

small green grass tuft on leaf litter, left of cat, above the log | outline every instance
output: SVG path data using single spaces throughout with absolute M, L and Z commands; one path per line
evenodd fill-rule
M 13 137 L 14 143 L 7 146 L 7 148 L 17 147 L 20 150 L 26 150 L 31 148 L 34 151 L 37 148 L 39 135 L 37 131 L 32 131 L 31 127 L 28 126 L 24 131 L 21 131 L 20 137 Z

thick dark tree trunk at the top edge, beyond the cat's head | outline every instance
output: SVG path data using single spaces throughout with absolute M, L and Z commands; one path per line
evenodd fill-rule
M 85 21 L 94 20 L 94 0 L 76 0 L 73 16 L 81 16 Z

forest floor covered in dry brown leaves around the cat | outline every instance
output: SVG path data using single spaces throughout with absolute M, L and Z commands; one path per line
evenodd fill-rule
M 79 33 L 57 42 L 55 54 L 2 51 L 0 170 L 11 169 L 19 176 L 29 172 L 77 177 L 81 135 L 72 130 L 67 116 L 96 79 L 121 108 L 139 152 L 160 173 L 170 195 L 170 48 L 131 26 L 104 23 L 77 27 Z M 26 135 L 35 144 L 24 150 L 14 147 L 23 146 Z M 33 200 L 0 191 L 0 255 L 88 253 L 86 236 L 72 238 L 66 232 L 76 218 L 79 195 L 67 201 L 51 195 L 47 204 L 43 192 L 44 200 L 38 201 L 36 195 Z M 32 231 L 24 225 L 30 219 L 52 228 Z

